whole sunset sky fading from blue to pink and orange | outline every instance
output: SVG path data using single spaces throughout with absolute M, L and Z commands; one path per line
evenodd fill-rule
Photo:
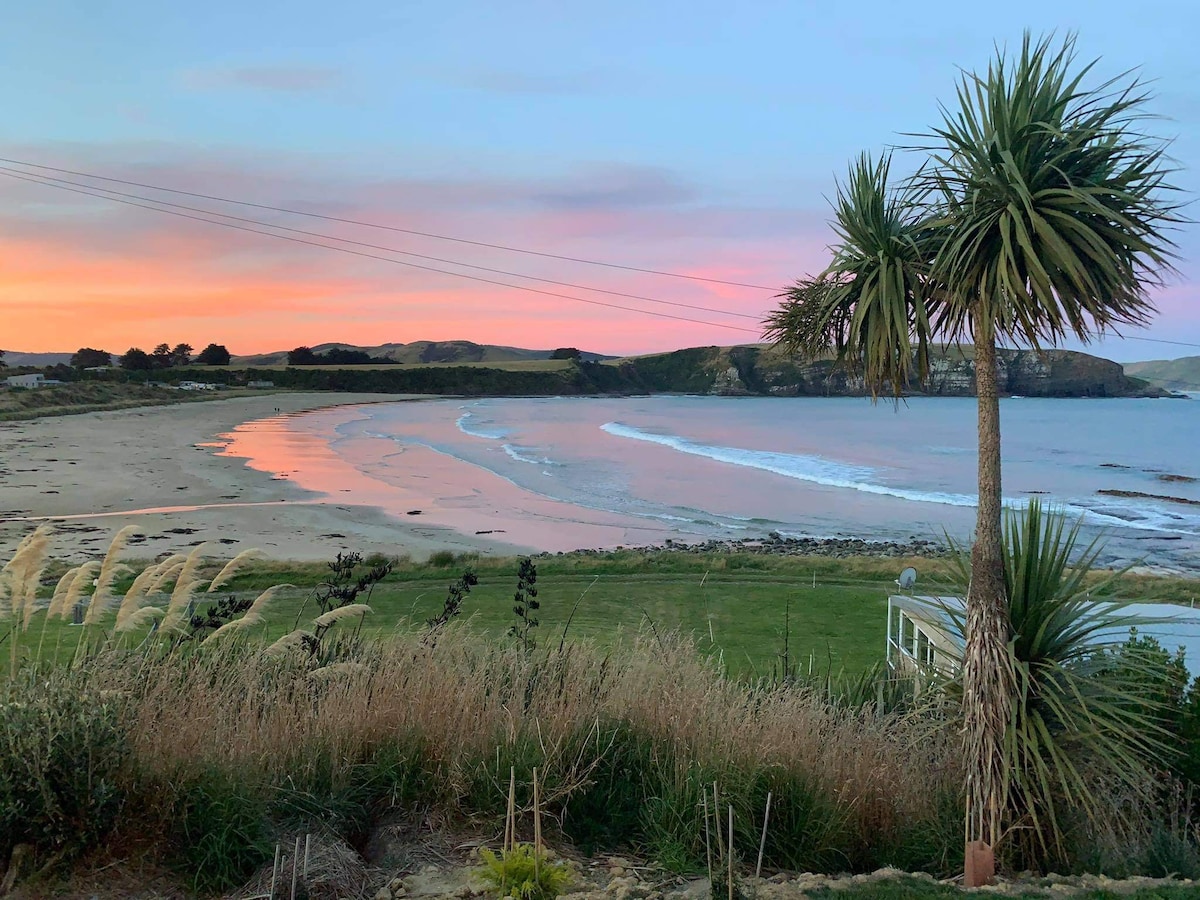
M 245 2 L 38 0 L 0 31 L 0 156 L 733 287 L 284 215 L 41 170 L 388 260 L 0 170 L 0 347 L 234 353 L 464 338 L 612 354 L 757 340 L 827 263 L 827 198 L 862 150 L 938 121 L 959 68 L 1022 29 L 1152 80 L 1200 190 L 1193 0 Z M 898 166 L 919 163 L 906 154 Z M 35 172 L 26 166 L 0 167 Z M 60 185 L 62 182 L 59 182 Z M 74 185 L 66 185 L 74 187 Z M 1193 218 L 1196 208 L 1189 210 Z M 1118 360 L 1200 354 L 1200 227 Z M 380 250 L 382 247 L 383 250 Z M 416 256 L 434 257 L 436 260 Z M 397 260 L 522 284 L 527 293 Z M 466 264 L 500 270 L 468 269 Z M 536 276 L 572 287 L 534 282 Z M 632 299 L 595 289 L 631 294 Z M 611 308 L 611 304 L 680 318 Z M 682 304 L 685 306 L 673 306 Z M 706 308 L 690 308 L 706 307 Z M 682 319 L 695 319 L 692 322 Z

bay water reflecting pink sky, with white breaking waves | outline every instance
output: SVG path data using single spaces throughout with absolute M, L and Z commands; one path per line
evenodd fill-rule
M 1200 569 L 1200 402 L 1010 398 L 1001 428 L 1009 505 L 1064 509 L 1109 563 Z M 539 550 L 964 539 L 974 521 L 972 398 L 380 403 L 244 426 L 226 452 L 330 500 Z

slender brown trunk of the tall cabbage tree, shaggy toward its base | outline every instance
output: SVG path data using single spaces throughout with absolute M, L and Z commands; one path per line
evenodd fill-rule
M 988 883 L 995 875 L 994 852 L 1003 827 L 1008 794 L 1004 734 L 1013 703 L 1001 535 L 996 335 L 985 316 L 976 319 L 974 355 L 979 412 L 979 506 L 971 548 L 962 661 L 967 887 Z

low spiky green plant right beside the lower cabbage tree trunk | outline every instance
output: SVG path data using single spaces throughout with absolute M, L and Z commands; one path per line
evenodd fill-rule
M 1145 792 L 1169 756 L 1154 673 L 1135 654 L 1121 653 L 1130 629 L 1154 619 L 1093 599 L 1122 572 L 1093 577 L 1100 546 L 1079 547 L 1079 528 L 1034 499 L 1008 514 L 1004 532 L 1008 655 L 1016 674 L 1004 733 L 1012 761 L 1006 818 L 1018 852 L 1043 868 L 1066 862 L 1072 816 L 1111 824 L 1123 815 L 1110 803 L 1114 788 Z M 954 548 L 966 580 L 968 554 Z M 956 611 L 950 618 L 960 630 L 966 624 Z

